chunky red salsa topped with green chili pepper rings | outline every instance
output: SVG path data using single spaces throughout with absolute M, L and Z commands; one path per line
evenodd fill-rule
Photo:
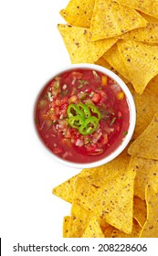
M 55 155 L 92 163 L 111 155 L 130 125 L 120 85 L 93 69 L 71 69 L 50 80 L 36 104 L 37 133 Z

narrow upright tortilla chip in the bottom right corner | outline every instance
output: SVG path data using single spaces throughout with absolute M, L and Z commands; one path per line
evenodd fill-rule
M 158 193 L 153 187 L 146 187 L 147 220 L 140 238 L 158 238 Z

